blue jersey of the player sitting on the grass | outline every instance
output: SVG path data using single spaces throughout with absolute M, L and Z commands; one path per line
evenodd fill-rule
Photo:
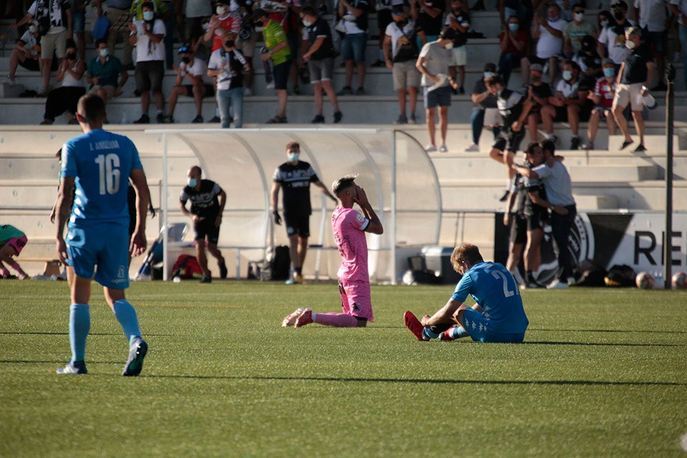
M 482 307 L 490 332 L 518 334 L 527 329 L 530 321 L 522 306 L 520 290 L 503 264 L 480 262 L 472 266 L 455 286 L 451 297 L 465 302 L 467 295 Z

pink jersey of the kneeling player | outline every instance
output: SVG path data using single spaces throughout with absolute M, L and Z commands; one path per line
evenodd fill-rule
M 353 282 L 370 282 L 368 273 L 368 241 L 365 228 L 370 220 L 352 208 L 337 207 L 332 214 L 334 240 L 339 247 L 341 267 L 339 278 Z

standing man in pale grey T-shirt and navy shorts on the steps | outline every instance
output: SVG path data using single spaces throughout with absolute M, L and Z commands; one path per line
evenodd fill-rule
M 425 95 L 425 117 L 427 119 L 427 133 L 429 145 L 427 152 L 436 152 L 436 127 L 434 126 L 437 107 L 439 108 L 439 128 L 441 146 L 439 152 L 448 152 L 446 135 L 449 128 L 449 106 L 451 106 L 451 88 L 458 89 L 453 78 L 449 77 L 449 65 L 453 54 L 453 40 L 455 30 L 445 29 L 439 34 L 437 41 L 431 41 L 423 46 L 415 67 L 423 74 L 421 84 Z

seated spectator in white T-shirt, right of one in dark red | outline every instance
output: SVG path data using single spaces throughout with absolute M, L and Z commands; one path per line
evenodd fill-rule
M 563 54 L 563 28 L 559 5 L 550 5 L 547 16 L 535 16 L 532 24 L 532 38 L 537 40 L 537 51 L 530 57 L 530 64 L 548 65 L 549 82 L 555 80 L 558 73 L 559 58 Z M 527 83 L 527 82 L 526 82 Z

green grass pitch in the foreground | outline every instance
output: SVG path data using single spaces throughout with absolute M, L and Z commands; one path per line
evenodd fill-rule
M 89 375 L 57 376 L 67 285 L 2 281 L 0 456 L 686 456 L 687 292 L 529 290 L 526 343 L 416 341 L 403 312 L 452 291 L 372 286 L 368 328 L 294 329 L 336 285 L 133 284 L 150 350 L 125 378 L 100 288 Z

